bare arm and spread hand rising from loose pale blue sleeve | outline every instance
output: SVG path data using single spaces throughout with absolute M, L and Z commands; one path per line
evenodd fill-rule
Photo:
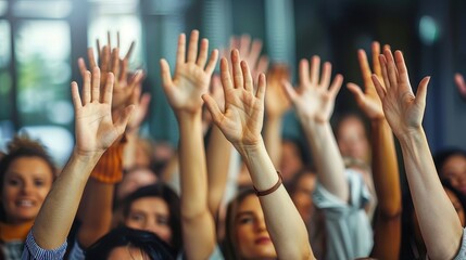
M 313 56 L 311 63 L 311 70 L 306 60 L 300 63 L 298 90 L 289 82 L 284 86 L 305 131 L 319 182 L 331 194 L 349 202 L 350 187 L 344 176 L 344 164 L 329 122 L 343 77 L 337 75 L 330 84 L 331 64 L 324 64 L 319 77 L 320 58 Z

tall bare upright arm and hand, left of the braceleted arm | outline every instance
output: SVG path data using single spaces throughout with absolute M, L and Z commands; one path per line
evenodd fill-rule
M 209 91 L 218 53 L 214 50 L 207 62 L 209 41 L 202 39 L 198 54 L 198 40 L 199 31 L 193 30 L 185 57 L 186 36 L 179 36 L 173 78 L 168 63 L 161 60 L 163 88 L 179 126 L 181 222 L 188 259 L 207 259 L 215 247 L 215 224 L 207 207 L 201 95 Z

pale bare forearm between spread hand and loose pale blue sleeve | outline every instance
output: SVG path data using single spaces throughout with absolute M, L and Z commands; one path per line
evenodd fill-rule
M 329 122 L 301 120 L 310 143 L 317 177 L 324 187 L 343 202 L 349 202 L 344 162 Z

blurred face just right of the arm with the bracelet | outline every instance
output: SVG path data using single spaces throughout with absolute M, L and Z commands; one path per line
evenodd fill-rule
M 291 198 L 303 218 L 305 223 L 308 223 L 314 211 L 312 193 L 314 192 L 316 178 L 314 174 L 302 176 L 297 183 L 297 190 Z

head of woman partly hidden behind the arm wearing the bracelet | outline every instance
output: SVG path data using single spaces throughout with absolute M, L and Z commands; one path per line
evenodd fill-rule
M 228 205 L 225 233 L 226 259 L 276 258 L 264 212 L 253 190 L 245 190 Z

